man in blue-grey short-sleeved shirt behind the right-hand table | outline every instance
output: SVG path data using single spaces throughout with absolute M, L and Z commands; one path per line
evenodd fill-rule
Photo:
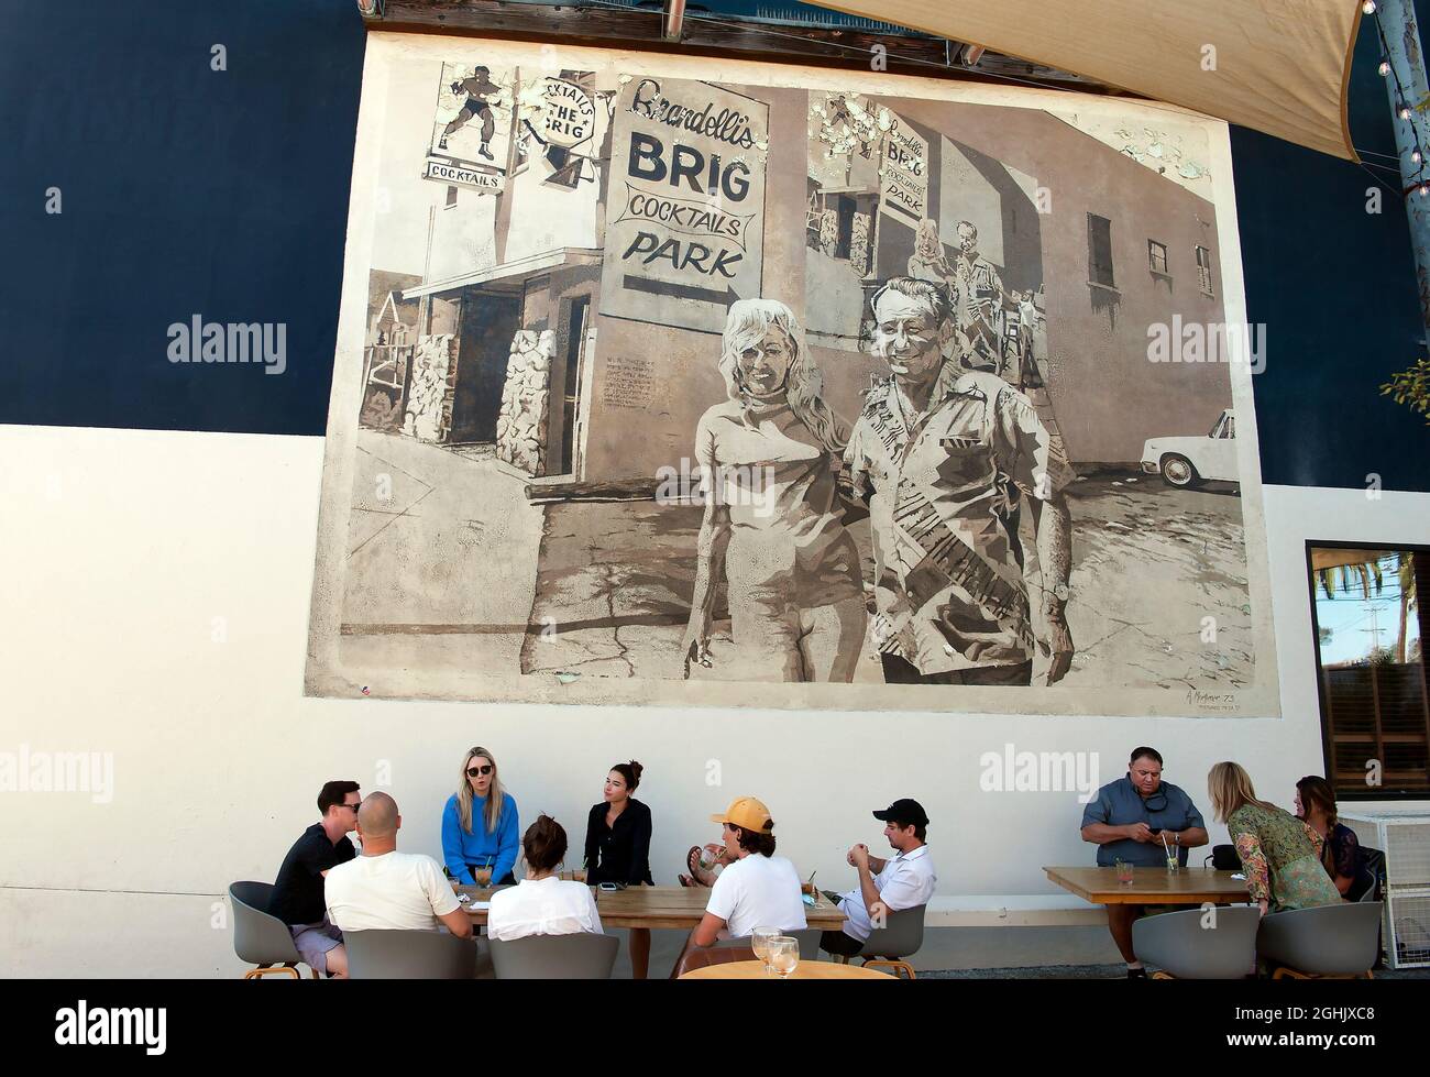
M 1164 867 L 1168 852 L 1185 867 L 1187 850 L 1207 844 L 1207 824 L 1197 805 L 1180 787 L 1163 781 L 1161 771 L 1155 748 L 1134 748 L 1127 774 L 1100 788 L 1083 810 L 1083 841 L 1097 845 L 1098 867 L 1120 860 Z M 1107 905 L 1107 930 L 1127 963 L 1128 980 L 1147 977 L 1133 951 L 1133 921 L 1147 911 L 1144 905 Z

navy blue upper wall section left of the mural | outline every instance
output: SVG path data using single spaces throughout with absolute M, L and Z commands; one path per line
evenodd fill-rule
M 0 0 L 0 422 L 323 433 L 363 37 L 353 0 Z M 286 372 L 170 363 L 193 315 L 286 323 Z

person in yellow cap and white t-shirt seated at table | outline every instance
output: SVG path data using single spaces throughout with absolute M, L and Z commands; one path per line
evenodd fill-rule
M 725 812 L 711 815 L 711 822 L 721 824 L 729 867 L 715 878 L 705 915 L 691 931 L 685 950 L 712 947 L 722 938 L 746 938 L 756 927 L 805 930 L 799 874 L 785 857 L 775 855 L 769 808 L 754 797 L 739 797 Z M 681 967 L 679 958 L 675 967 Z

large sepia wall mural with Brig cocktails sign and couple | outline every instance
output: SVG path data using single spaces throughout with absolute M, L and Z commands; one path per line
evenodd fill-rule
M 310 694 L 1277 712 L 1224 124 L 373 34 L 352 197 Z

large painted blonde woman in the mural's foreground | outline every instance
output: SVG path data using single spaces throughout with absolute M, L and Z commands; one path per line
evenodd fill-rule
M 721 376 L 729 399 L 695 428 L 705 519 L 684 672 L 714 667 L 721 572 L 738 679 L 851 681 L 864 642 L 859 554 L 835 493 L 848 426 L 824 402 L 819 369 L 788 306 L 736 300 Z

